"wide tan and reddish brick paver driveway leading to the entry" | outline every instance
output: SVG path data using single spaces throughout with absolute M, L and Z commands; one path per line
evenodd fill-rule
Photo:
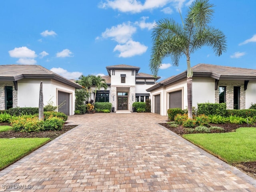
M 80 125 L 2 170 L 0 191 L 256 191 L 256 180 L 157 124 L 164 120 L 70 116 Z

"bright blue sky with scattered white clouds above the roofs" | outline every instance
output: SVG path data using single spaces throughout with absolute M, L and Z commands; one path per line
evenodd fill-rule
M 5 0 L 0 6 L 0 64 L 38 64 L 68 79 L 107 74 L 106 66 L 127 64 L 151 74 L 152 27 L 162 18 L 181 22 L 192 0 Z M 190 56 L 198 63 L 256 69 L 256 1 L 210 0 L 211 26 L 224 32 L 227 52 L 204 47 Z M 161 80 L 186 70 L 163 60 Z

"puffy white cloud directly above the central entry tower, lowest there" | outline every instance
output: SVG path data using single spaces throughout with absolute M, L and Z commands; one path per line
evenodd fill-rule
M 144 52 L 146 52 L 146 50 L 148 49 L 147 46 L 140 44 L 140 42 L 135 42 L 135 41 L 128 41 L 126 42 L 126 44 L 124 45 L 117 45 L 114 48 L 114 51 L 119 51 L 120 54 L 118 55 L 118 57 L 132 57 L 135 55 L 141 55 Z

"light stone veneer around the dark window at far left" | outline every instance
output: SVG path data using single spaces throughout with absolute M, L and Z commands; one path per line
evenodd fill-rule
M 5 86 L 12 86 L 12 107 L 18 106 L 18 91 L 14 89 L 13 82 L 0 83 L 0 110 L 5 110 Z

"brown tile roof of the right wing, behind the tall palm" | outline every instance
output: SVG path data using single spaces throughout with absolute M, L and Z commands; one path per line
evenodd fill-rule
M 212 64 L 197 64 L 192 67 L 193 77 L 211 77 L 216 80 L 256 80 L 256 70 L 229 66 L 220 66 Z M 165 86 L 186 78 L 187 70 L 166 78 L 156 85 L 148 88 L 146 91 L 152 91 L 160 86 Z

